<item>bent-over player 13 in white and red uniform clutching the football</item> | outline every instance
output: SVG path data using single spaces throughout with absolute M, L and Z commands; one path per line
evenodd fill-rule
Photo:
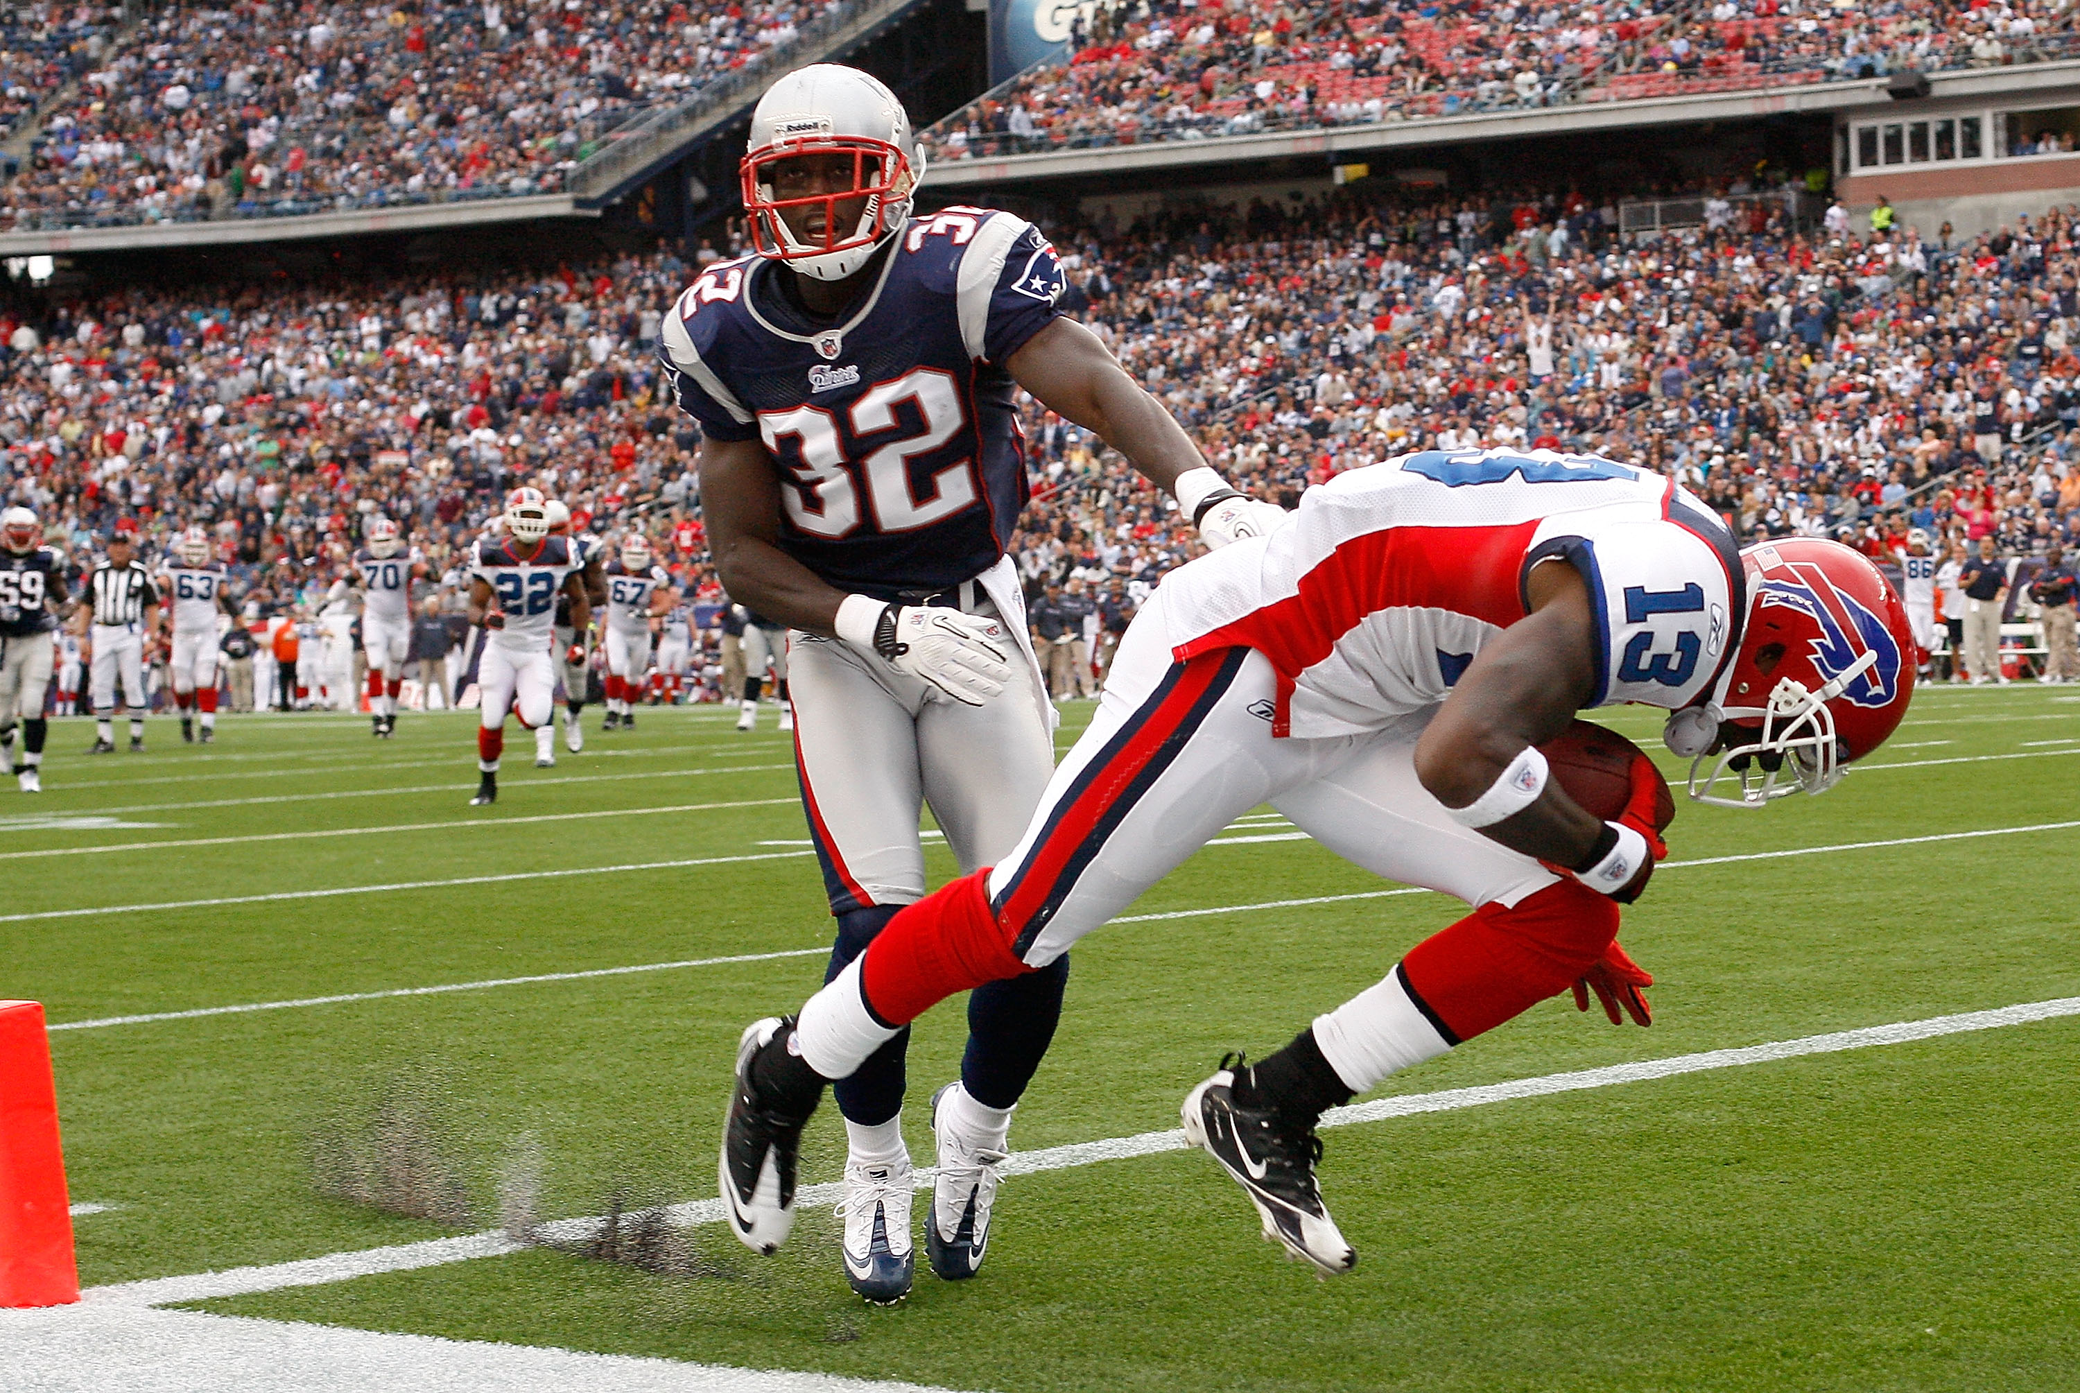
M 1044 971 L 1271 803 L 1348 861 L 1473 909 L 1285 1048 L 1221 1060 L 1184 1102 L 1186 1137 L 1248 1191 L 1265 1237 L 1346 1272 L 1356 1252 L 1315 1175 L 1323 1110 L 1570 985 L 1614 1023 L 1620 1006 L 1649 1021 L 1652 977 L 1616 934 L 1668 850 L 1660 773 L 1637 755 L 1631 800 L 1606 821 L 1537 746 L 1581 709 L 1631 701 L 1670 711 L 1695 798 L 1822 792 L 1899 726 L 1912 642 L 1860 553 L 1818 538 L 1735 551 L 1647 470 L 1423 451 L 1340 474 L 1269 534 L 1163 580 L 1011 857 L 896 915 L 799 1023 L 745 1031 L 726 1175 L 772 1177 L 745 1208 L 778 1245 L 801 1125 L 774 1119 L 807 1116 L 824 1079 L 944 996 Z

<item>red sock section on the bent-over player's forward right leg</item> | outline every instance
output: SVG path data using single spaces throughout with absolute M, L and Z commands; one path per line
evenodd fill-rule
M 1483 904 L 1431 934 L 1402 958 L 1402 973 L 1458 1040 L 1473 1040 L 1566 992 L 1616 936 L 1618 902 L 1562 879 L 1516 909 Z

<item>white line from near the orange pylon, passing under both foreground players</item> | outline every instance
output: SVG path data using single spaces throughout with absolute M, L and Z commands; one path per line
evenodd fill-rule
M 1924 1021 L 1895 1021 L 1893 1025 L 1866 1025 L 1862 1029 L 1830 1031 L 1826 1035 L 1801 1035 L 1797 1040 L 1776 1040 L 1770 1044 L 1743 1046 L 1733 1050 L 1704 1050 L 1699 1054 L 1676 1054 L 1672 1058 L 1633 1060 L 1608 1065 L 1604 1069 L 1579 1069 L 1572 1073 L 1550 1073 L 1533 1079 L 1510 1079 L 1506 1083 L 1483 1083 L 1475 1087 L 1454 1087 L 1437 1094 L 1404 1094 L 1400 1098 L 1377 1098 L 1373 1102 L 1333 1108 L 1323 1114 L 1323 1127 L 1350 1127 L 1354 1123 L 1379 1123 L 1394 1116 L 1414 1116 L 1421 1112 L 1450 1112 L 1456 1108 L 1479 1108 L 1491 1102 L 1512 1102 L 1518 1098 L 1543 1098 L 1550 1094 L 1572 1094 L 1614 1083 L 1643 1083 L 1649 1079 L 1672 1079 L 1685 1073 L 1710 1069 L 1737 1069 L 1743 1065 L 1764 1065 L 1772 1060 L 1799 1058 L 1805 1054 L 1835 1054 L 1841 1050 L 1868 1050 L 1872 1046 L 1909 1044 L 1936 1035 L 1959 1035 L 1966 1031 L 1999 1029 L 2003 1025 L 2028 1025 L 2057 1017 L 2080 1015 L 2080 996 L 2061 996 L 2049 1002 L 2024 1002 L 2018 1006 L 1997 1006 L 1993 1010 L 1968 1010 L 1949 1017 L 1928 1017 Z M 1075 1141 L 1050 1146 L 1038 1152 L 1013 1152 L 1005 1162 L 1005 1175 L 1040 1175 L 1044 1171 L 1069 1171 L 1090 1166 L 1100 1160 L 1125 1160 L 1129 1156 L 1154 1156 L 1161 1152 L 1186 1150 L 1184 1129 L 1144 1131 L 1132 1137 L 1107 1137 L 1102 1141 Z M 917 1181 L 926 1183 L 930 1168 L 917 1171 Z M 824 1206 L 840 1198 L 840 1183 L 805 1185 L 797 1193 L 801 1206 Z M 668 1214 L 678 1225 L 722 1223 L 722 1200 L 691 1200 L 670 1206 Z M 584 1237 L 597 1218 L 566 1218 L 545 1225 L 551 1237 Z M 412 1268 L 443 1266 L 447 1262 L 470 1262 L 474 1258 L 497 1258 L 516 1252 L 518 1245 L 501 1231 L 472 1233 L 453 1239 L 431 1239 L 422 1243 L 397 1243 L 393 1247 L 364 1247 L 360 1252 L 329 1254 L 302 1262 L 277 1262 L 268 1266 L 231 1268 L 225 1272 L 198 1272 L 193 1277 L 160 1277 L 110 1287 L 94 1287 L 85 1293 L 89 1302 L 121 1302 L 125 1306 L 166 1306 L 175 1302 L 206 1302 L 231 1295 L 254 1295 L 279 1291 L 283 1287 L 318 1287 L 376 1272 L 404 1272 Z

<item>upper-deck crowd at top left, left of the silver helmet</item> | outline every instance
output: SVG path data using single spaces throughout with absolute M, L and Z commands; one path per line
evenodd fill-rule
M 826 0 L 166 6 L 56 106 L 0 231 L 547 193 Z

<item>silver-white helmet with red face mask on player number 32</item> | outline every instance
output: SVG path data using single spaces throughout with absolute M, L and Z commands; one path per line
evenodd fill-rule
M 776 189 L 774 168 L 799 156 L 851 158 L 847 187 Z M 753 249 L 805 277 L 842 281 L 903 231 L 911 195 L 924 181 L 924 148 L 896 94 L 859 69 L 815 62 L 788 73 L 759 98 L 751 143 L 736 168 Z M 859 216 L 840 227 L 838 214 L 849 202 L 861 202 Z M 803 241 L 782 214 L 805 210 L 813 218 L 817 208 L 824 231 Z

